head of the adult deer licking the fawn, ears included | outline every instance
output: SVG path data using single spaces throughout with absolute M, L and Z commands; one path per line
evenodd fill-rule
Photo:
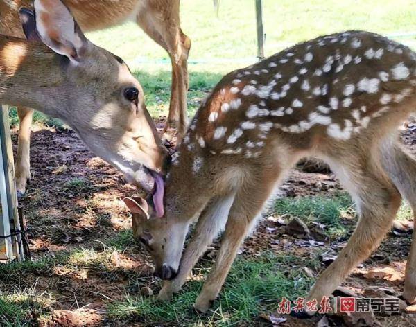
M 33 8 L 20 10 L 24 33 L 55 53 L 50 69 L 62 76 L 53 85 L 59 102 L 45 96 L 46 113 L 66 121 L 128 182 L 153 191 L 168 152 L 146 109 L 141 85 L 121 58 L 89 42 L 62 1 L 35 0 Z

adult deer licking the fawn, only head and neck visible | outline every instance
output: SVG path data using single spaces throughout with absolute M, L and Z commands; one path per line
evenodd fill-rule
M 21 9 L 31 42 L 0 35 L 0 101 L 61 118 L 129 182 L 153 191 L 166 148 L 127 65 L 83 35 L 60 0 Z M 36 17 L 36 18 L 35 18 Z

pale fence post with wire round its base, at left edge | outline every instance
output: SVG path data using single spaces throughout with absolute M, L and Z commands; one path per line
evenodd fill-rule
M 13 163 L 12 140 L 8 106 L 1 105 L 0 113 L 0 191 L 1 223 L 0 236 L 8 236 L 12 231 L 20 231 L 19 213 L 17 211 L 17 192 L 15 165 Z M 0 260 L 24 259 L 21 248 L 21 235 L 0 239 Z

